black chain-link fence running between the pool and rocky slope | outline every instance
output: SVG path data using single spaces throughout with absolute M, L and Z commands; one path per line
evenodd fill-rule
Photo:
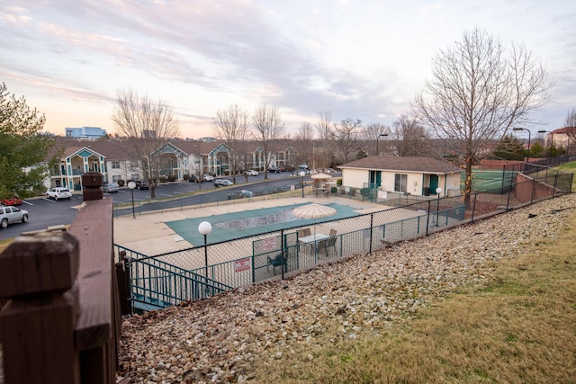
M 258 281 L 284 279 L 320 263 L 370 254 L 392 243 L 572 192 L 572 174 L 555 173 L 468 197 L 391 196 L 382 210 L 312 226 L 284 228 L 162 255 L 116 245 L 129 271 L 133 308 L 164 308 Z M 356 198 L 351 194 L 347 198 Z M 361 196 L 359 196 L 361 197 Z M 279 198 L 279 197 L 278 197 Z

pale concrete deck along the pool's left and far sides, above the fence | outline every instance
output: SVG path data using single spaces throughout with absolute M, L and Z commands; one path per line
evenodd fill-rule
M 346 205 L 361 214 L 386 209 L 385 206 L 374 204 L 370 201 L 356 201 L 340 197 L 330 197 L 329 199 L 289 197 L 283 199 L 268 198 L 267 200 L 255 198 L 246 202 L 220 203 L 218 206 L 191 206 L 189 209 L 184 210 L 178 209 L 140 215 L 137 216 L 136 219 L 132 219 L 131 217 L 114 219 L 114 244 L 124 246 L 144 255 L 159 255 L 166 252 L 179 251 L 191 248 L 193 245 L 183 237 L 180 237 L 166 222 L 193 218 L 208 219 L 213 215 L 292 206 L 306 202 Z

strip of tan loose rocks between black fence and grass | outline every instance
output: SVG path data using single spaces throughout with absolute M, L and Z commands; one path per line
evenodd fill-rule
M 555 237 L 576 195 L 234 290 L 122 324 L 120 382 L 266 382 L 257 359 L 378 333 L 399 317 L 491 279 L 494 263 Z M 312 353 L 304 356 L 312 359 Z

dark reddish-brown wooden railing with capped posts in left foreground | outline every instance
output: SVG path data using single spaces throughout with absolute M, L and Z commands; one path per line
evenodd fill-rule
M 121 316 L 112 200 L 86 189 L 67 232 L 16 237 L 0 255 L 6 384 L 115 382 Z

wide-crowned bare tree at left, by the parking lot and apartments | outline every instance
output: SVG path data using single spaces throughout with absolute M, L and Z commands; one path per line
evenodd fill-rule
M 142 178 L 150 185 L 150 197 L 156 197 L 156 186 L 162 169 L 163 156 L 158 153 L 169 138 L 179 135 L 178 121 L 162 100 L 152 101 L 133 89 L 117 91 L 112 121 L 118 133 L 130 140 L 141 162 Z

